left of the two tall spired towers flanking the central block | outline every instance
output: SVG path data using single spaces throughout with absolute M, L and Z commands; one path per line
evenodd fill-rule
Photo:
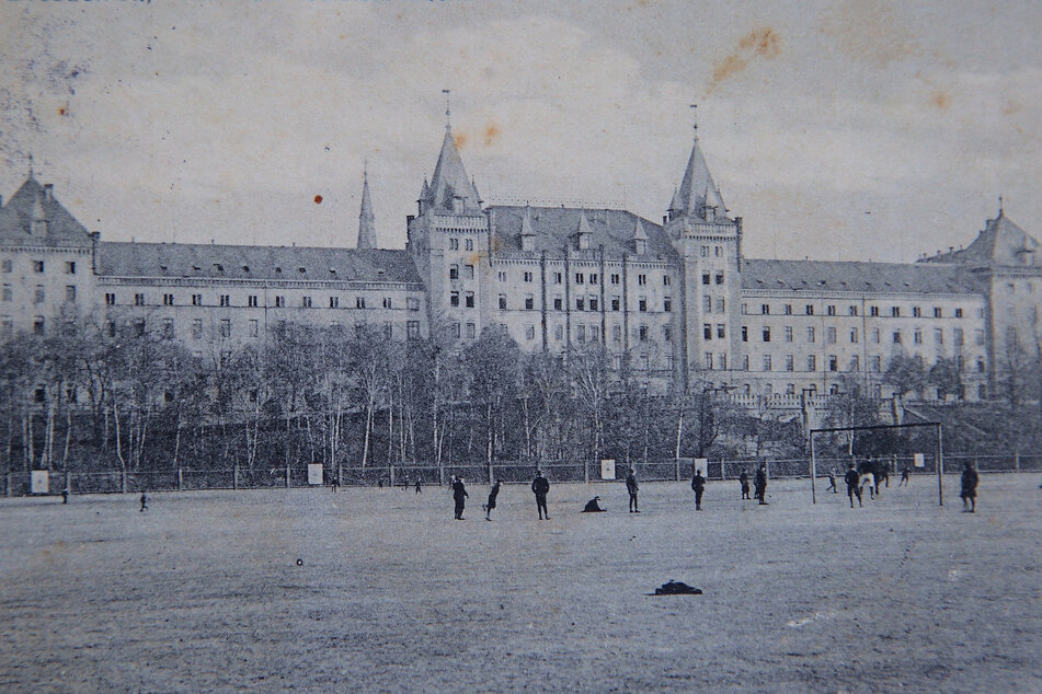
M 408 218 L 407 247 L 430 291 L 432 333 L 466 342 L 481 334 L 491 310 L 480 291 L 489 271 L 489 217 L 463 166 L 448 102 L 445 119 L 434 174 L 423 182 L 417 213 Z

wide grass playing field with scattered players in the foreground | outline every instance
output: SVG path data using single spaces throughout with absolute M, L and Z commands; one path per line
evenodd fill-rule
M 552 482 L 552 481 L 551 481 Z M 1042 691 L 1042 489 L 0 500 L 0 690 Z M 607 513 L 579 513 L 598 494 Z M 298 566 L 300 559 L 302 565 Z M 668 579 L 702 595 L 649 597 Z

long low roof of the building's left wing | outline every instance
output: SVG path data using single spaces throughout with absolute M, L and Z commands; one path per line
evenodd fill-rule
M 107 277 L 419 282 L 407 251 L 244 246 L 204 243 L 100 245 L 98 274 Z

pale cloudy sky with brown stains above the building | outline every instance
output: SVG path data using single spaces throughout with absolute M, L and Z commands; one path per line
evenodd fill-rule
M 0 194 L 103 240 L 402 247 L 453 123 L 486 201 L 660 220 L 699 136 L 752 257 L 1042 236 L 1033 1 L 0 2 Z M 322 203 L 316 204 L 316 196 Z

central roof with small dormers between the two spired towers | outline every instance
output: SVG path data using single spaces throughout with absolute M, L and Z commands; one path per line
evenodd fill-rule
M 646 253 L 640 257 L 671 263 L 679 261 L 662 227 L 626 210 L 496 205 L 489 208 L 489 215 L 494 255 L 528 256 L 546 251 L 550 257 L 561 257 L 565 246 L 576 248 L 577 230 L 581 220 L 585 219 L 584 229 L 591 234 L 591 252 L 603 245 L 607 258 L 619 259 L 623 253 L 633 256 L 633 233 L 639 220 L 648 235 Z M 522 251 L 520 242 L 526 215 L 534 234 L 533 252 L 528 254 Z

